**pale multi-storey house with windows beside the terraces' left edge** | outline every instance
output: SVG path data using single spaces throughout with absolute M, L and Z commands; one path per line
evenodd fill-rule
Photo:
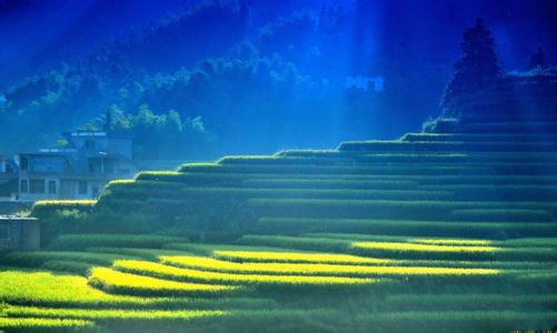
M 63 149 L 16 155 L 21 201 L 95 199 L 109 181 L 136 174 L 131 137 L 103 131 L 64 137 Z

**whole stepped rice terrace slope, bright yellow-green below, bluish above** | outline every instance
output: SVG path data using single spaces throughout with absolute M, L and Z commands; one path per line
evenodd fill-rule
M 46 219 L 145 214 L 167 235 L 62 234 L 3 253 L 0 329 L 555 330 L 551 123 L 475 120 L 458 133 L 228 157 L 115 181 L 95 204 L 40 203 Z

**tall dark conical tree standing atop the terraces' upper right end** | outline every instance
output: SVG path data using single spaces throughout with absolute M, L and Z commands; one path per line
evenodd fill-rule
M 458 113 L 462 99 L 497 82 L 501 71 L 494 38 L 481 19 L 464 32 L 460 47 L 462 57 L 455 63 L 455 73 L 441 100 L 441 107 L 449 115 Z

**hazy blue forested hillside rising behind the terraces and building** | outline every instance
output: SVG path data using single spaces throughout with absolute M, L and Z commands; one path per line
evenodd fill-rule
M 110 127 L 136 134 L 145 159 L 394 138 L 439 112 L 461 28 L 478 10 L 455 2 L 458 23 L 439 33 L 448 8 L 417 18 L 412 0 L 198 2 L 0 1 L 0 44 L 8 46 L 0 63 L 11 70 L 0 78 L 0 151 L 63 145 L 60 131 L 100 128 L 108 110 Z M 525 18 L 548 6 L 510 2 Z M 484 12 L 507 27 L 497 9 Z M 548 23 L 536 24 L 536 42 L 550 39 Z M 533 42 L 517 34 L 504 47 L 525 39 Z M 359 77 L 375 87 L 347 84 Z

